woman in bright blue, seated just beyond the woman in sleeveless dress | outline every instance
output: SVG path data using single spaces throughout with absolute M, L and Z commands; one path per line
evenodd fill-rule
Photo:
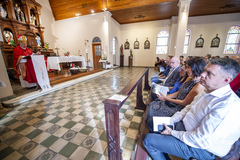
M 186 81 L 186 79 L 188 78 L 188 74 L 186 72 L 186 65 L 183 65 L 181 70 L 179 71 L 180 72 L 180 77 L 178 78 L 178 80 L 176 81 L 176 83 L 174 84 L 173 87 L 168 87 L 169 88 L 169 92 L 168 94 L 173 94 L 175 92 L 177 92 L 179 90 L 179 88 L 182 86 L 182 84 Z M 152 92 L 151 92 L 151 97 L 152 97 L 152 100 L 154 101 L 155 99 L 157 99 L 157 94 L 155 94 L 153 91 L 154 91 L 154 88 L 156 85 L 159 85 L 159 84 L 154 84 L 152 86 Z

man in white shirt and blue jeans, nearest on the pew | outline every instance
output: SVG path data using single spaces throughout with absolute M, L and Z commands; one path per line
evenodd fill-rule
M 227 58 L 213 59 L 201 74 L 206 88 L 193 102 L 172 116 L 175 130 L 165 125 L 161 134 L 149 133 L 143 144 L 154 160 L 223 157 L 240 136 L 240 99 L 229 83 L 239 65 Z

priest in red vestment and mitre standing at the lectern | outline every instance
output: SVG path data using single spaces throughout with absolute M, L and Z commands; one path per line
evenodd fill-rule
M 33 52 L 27 48 L 27 37 L 19 35 L 18 43 L 19 45 L 13 50 L 13 68 L 17 72 L 22 87 L 36 86 L 37 78 L 29 57 Z

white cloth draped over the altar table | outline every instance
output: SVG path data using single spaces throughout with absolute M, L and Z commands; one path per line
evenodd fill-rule
M 59 63 L 71 63 L 71 62 L 82 62 L 82 67 L 86 67 L 85 59 L 83 56 L 65 56 L 65 57 L 48 57 L 47 59 L 47 70 L 55 69 L 61 70 Z

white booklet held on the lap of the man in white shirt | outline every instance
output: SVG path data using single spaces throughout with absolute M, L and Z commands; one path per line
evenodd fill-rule
M 162 132 L 165 130 L 163 123 L 165 123 L 168 127 L 174 129 L 174 123 L 171 117 L 153 117 L 153 131 Z

